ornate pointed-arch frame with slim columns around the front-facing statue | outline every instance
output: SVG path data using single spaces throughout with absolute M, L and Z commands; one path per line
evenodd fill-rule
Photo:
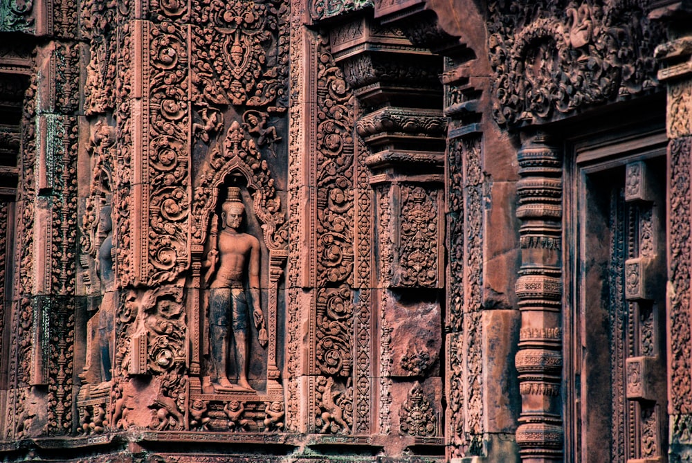
M 275 401 L 282 397 L 277 367 L 277 305 L 279 280 L 284 273 L 287 248 L 287 223 L 282 202 L 275 188 L 275 179 L 268 164 L 252 138 L 239 122 L 231 123 L 223 141 L 210 148 L 206 161 L 199 169 L 194 185 L 192 205 L 192 273 L 188 287 L 188 316 L 190 319 L 191 385 L 199 384 L 203 372 L 203 357 L 208 352 L 206 285 L 203 263 L 210 239 L 219 226 L 219 206 L 226 187 L 239 186 L 246 206 L 246 232 L 261 242 L 262 309 L 268 332 L 266 347 L 266 397 Z M 266 278 L 264 278 L 266 276 Z M 251 366 L 251 372 L 253 368 Z M 264 391 L 260 395 L 264 395 Z

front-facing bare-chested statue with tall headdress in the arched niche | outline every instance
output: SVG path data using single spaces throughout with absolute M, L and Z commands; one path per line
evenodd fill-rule
M 221 205 L 221 232 L 211 236 L 205 266 L 209 290 L 209 347 L 211 380 L 217 392 L 248 391 L 248 302 L 244 289 L 247 278 L 253 302 L 253 318 L 260 344 L 267 343 L 264 316 L 260 307 L 260 242 L 253 235 L 242 233 L 245 207 L 240 188 L 229 187 L 226 201 Z M 216 241 L 216 242 L 214 242 Z M 228 379 L 230 342 L 233 335 L 237 384 Z

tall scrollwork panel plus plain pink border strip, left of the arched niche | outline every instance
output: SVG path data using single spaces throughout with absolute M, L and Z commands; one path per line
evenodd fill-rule
M 172 282 L 190 264 L 189 37 L 188 28 L 172 23 L 136 26 L 142 42 L 134 53 L 143 70 L 133 75 L 133 90 L 148 98 L 141 108 L 145 120 L 136 127 L 141 148 L 134 152 L 133 194 L 141 198 L 132 210 L 134 277 L 154 285 Z

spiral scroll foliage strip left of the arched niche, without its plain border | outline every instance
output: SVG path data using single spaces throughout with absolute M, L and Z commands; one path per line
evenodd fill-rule
M 145 189 L 149 203 L 150 285 L 171 282 L 190 255 L 188 180 L 188 37 L 170 23 L 152 26 L 149 57 L 149 159 Z

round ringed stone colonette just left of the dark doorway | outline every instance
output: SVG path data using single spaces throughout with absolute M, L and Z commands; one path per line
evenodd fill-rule
M 522 412 L 516 441 L 526 462 L 558 462 L 563 455 L 560 401 L 562 344 L 562 158 L 542 134 L 518 152 L 517 217 L 522 265 L 516 282 L 521 311 L 519 373 Z

